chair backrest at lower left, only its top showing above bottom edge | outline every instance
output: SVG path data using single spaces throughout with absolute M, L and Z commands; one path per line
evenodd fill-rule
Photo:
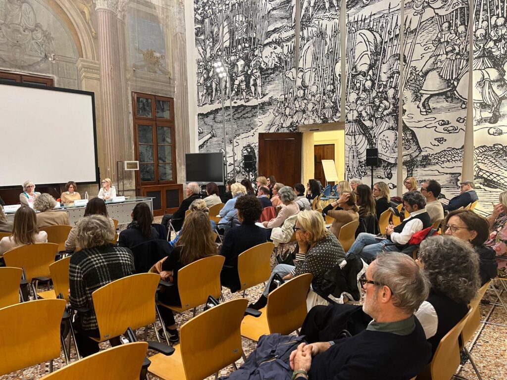
M 147 349 L 148 343 L 144 341 L 116 346 L 70 363 L 42 377 L 41 380 L 71 378 L 137 380 Z

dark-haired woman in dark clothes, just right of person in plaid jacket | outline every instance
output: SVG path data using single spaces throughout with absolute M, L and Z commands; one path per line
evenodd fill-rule
M 132 248 L 148 240 L 159 239 L 157 230 L 152 227 L 152 222 L 153 214 L 150 206 L 146 203 L 136 204 L 132 210 L 132 221 L 127 225 L 125 230 L 120 232 L 118 245 L 120 247 Z M 165 236 L 162 238 L 165 238 Z

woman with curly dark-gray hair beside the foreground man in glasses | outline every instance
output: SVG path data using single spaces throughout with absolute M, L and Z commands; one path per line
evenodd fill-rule
M 417 261 L 429 278 L 431 291 L 415 315 L 434 354 L 440 340 L 465 316 L 468 303 L 477 294 L 479 255 L 466 241 L 433 236 L 421 243 Z

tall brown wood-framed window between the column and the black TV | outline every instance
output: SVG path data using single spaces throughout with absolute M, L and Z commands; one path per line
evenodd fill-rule
M 174 99 L 132 93 L 138 184 L 176 183 Z

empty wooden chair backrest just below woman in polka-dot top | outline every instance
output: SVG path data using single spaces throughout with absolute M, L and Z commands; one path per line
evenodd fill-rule
M 269 293 L 266 317 L 271 334 L 286 335 L 301 327 L 307 314 L 306 294 L 312 279 L 310 273 L 305 273 Z

